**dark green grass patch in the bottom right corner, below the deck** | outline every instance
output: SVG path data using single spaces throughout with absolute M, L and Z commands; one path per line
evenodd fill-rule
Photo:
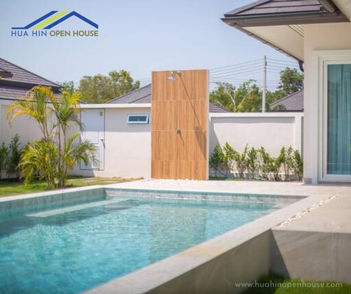
M 289 280 L 278 275 L 266 275 L 244 294 L 350 294 L 351 285 L 339 282 Z

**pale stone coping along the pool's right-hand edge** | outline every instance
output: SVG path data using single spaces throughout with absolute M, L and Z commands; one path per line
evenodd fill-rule
M 106 186 L 106 188 L 112 187 Z M 128 188 L 123 187 L 123 189 Z M 131 188 L 131 190 L 138 189 Z M 171 189 L 171 191 L 176 190 Z M 204 191 L 200 191 L 200 193 L 203 192 Z M 208 192 L 213 193 L 213 191 Z M 235 247 L 239 247 L 239 245 L 250 241 L 252 238 L 268 232 L 277 225 L 280 225 L 280 223 L 287 221 L 287 219 L 291 219 L 300 212 L 311 208 L 311 206 L 333 195 L 334 194 L 331 193 L 328 195 L 304 195 L 301 200 L 276 210 L 275 212 L 271 212 L 269 215 L 265 215 L 264 217 L 200 243 L 199 245 L 190 247 L 183 252 L 169 256 L 152 265 L 123 275 L 120 278 L 116 278 L 100 286 L 96 286 L 93 289 L 85 291 L 84 294 L 137 294 L 158 289 L 161 286 L 167 285 L 172 280 L 210 262 L 214 258 L 229 252 Z M 280 196 L 285 197 L 285 195 Z M 286 196 L 288 197 L 289 195 Z

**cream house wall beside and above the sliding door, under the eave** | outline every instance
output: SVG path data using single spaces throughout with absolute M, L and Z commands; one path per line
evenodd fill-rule
M 319 181 L 318 145 L 320 107 L 319 69 L 316 51 L 351 49 L 351 23 L 304 26 L 304 181 Z

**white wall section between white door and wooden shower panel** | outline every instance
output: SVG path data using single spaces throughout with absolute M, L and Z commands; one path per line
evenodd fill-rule
M 150 114 L 150 108 L 106 108 L 104 171 L 83 171 L 77 167 L 72 173 L 95 177 L 150 177 L 151 122 L 126 123 L 127 114 L 133 113 Z

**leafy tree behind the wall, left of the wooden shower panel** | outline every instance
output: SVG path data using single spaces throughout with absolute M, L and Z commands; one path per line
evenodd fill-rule
M 86 103 L 104 103 L 139 88 L 140 82 L 134 82 L 128 71 L 111 71 L 108 76 L 84 76 L 80 80 L 79 90 L 82 101 Z

